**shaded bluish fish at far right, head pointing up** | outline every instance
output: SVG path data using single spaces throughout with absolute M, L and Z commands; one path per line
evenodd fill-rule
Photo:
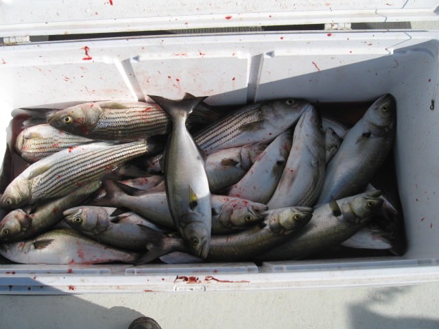
M 383 95 L 370 106 L 329 162 L 318 204 L 358 193 L 370 182 L 392 147 L 395 119 L 392 95 Z

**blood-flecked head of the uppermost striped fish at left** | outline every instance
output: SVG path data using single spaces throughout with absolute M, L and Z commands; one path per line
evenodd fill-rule
M 97 125 L 101 114 L 99 104 L 84 103 L 57 112 L 49 119 L 49 124 L 59 130 L 87 135 Z

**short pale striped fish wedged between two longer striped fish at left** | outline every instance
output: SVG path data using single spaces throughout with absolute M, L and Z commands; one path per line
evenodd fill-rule
M 92 142 L 92 139 L 62 132 L 45 123 L 20 132 L 16 138 L 15 151 L 26 162 L 34 163 L 67 147 Z

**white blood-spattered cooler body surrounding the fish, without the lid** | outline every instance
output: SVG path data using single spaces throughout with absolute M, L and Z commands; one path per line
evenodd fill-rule
M 1 110 L 57 103 L 207 95 L 227 105 L 277 97 L 397 101 L 396 173 L 404 257 L 320 264 L 230 265 L 227 271 L 126 265 L 0 265 L 1 293 L 295 289 L 439 282 L 439 32 L 285 32 L 167 36 L 0 47 Z M 6 125 L 7 121 L 3 121 Z M 5 126 L 3 126 L 5 128 Z M 3 145 L 1 145 L 3 146 Z M 311 264 L 311 265 L 310 265 Z M 300 265 L 300 266 L 299 266 Z M 28 269 L 28 271 L 26 271 Z M 53 271 L 51 270 L 53 269 Z M 92 271 L 90 271 L 92 269 Z M 154 271 L 154 273 L 152 273 Z M 9 272 L 9 273 L 7 273 Z M 14 272 L 14 273 L 12 273 Z

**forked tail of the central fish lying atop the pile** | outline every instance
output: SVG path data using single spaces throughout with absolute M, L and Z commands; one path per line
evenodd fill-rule
M 161 96 L 148 95 L 153 99 L 158 106 L 163 108 L 166 114 L 171 118 L 172 121 L 180 117 L 187 119 L 189 114 L 201 103 L 206 97 L 193 97 L 192 95 L 185 95 L 185 98 L 174 101 L 172 99 L 167 99 Z

